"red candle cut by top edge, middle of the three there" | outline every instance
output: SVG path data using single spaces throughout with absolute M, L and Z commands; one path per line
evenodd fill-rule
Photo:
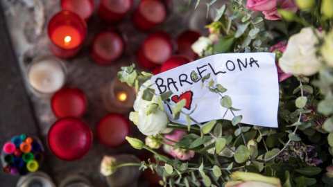
M 99 17 L 108 24 L 117 24 L 133 6 L 133 0 L 101 0 Z

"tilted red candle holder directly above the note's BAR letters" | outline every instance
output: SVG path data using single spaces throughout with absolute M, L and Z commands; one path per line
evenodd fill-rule
M 168 33 L 153 33 L 137 51 L 137 60 L 143 67 L 153 69 L 168 60 L 173 48 L 173 40 Z

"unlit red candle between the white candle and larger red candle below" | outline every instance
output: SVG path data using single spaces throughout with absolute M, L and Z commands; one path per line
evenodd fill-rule
M 87 96 L 78 88 L 63 88 L 53 95 L 51 108 L 58 118 L 69 116 L 80 118 L 87 109 Z

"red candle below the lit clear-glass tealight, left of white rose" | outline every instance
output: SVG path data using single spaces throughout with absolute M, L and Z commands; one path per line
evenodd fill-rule
M 120 114 L 105 116 L 97 126 L 99 141 L 109 147 L 118 147 L 126 142 L 125 137 L 130 135 L 130 123 Z

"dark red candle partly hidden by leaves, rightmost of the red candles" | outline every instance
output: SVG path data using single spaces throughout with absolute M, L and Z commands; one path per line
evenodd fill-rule
M 198 38 L 200 34 L 194 30 L 186 30 L 184 33 L 179 35 L 177 44 L 178 44 L 178 53 L 182 55 L 187 55 L 189 58 L 196 60 L 198 55 L 194 53 L 191 46 Z

